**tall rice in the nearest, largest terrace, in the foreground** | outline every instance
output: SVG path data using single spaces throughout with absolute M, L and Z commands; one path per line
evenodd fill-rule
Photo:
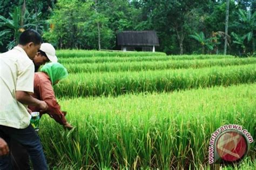
M 44 115 L 39 137 L 50 167 L 59 169 L 230 169 L 208 165 L 211 134 L 220 126 L 238 124 L 256 139 L 255 89 L 256 84 L 243 84 L 62 98 L 59 103 L 75 129 L 64 131 Z M 253 148 L 255 142 L 244 165 L 234 167 L 253 167 Z

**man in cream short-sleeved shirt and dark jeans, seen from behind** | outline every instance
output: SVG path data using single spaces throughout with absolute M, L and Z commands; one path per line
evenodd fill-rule
M 42 111 L 48 106 L 44 101 L 30 96 L 33 93 L 35 66 L 32 59 L 41 47 L 42 38 L 35 30 L 24 31 L 14 49 L 0 55 L 0 138 L 7 144 L 16 140 L 30 154 L 34 169 L 48 169 L 43 147 L 30 125 L 28 105 Z M 0 169 L 11 169 L 10 155 L 0 158 Z

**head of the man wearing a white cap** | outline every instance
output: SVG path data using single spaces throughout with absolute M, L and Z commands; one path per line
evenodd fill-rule
M 56 57 L 55 48 L 49 43 L 43 43 L 33 59 L 35 72 L 38 71 L 41 65 L 44 65 L 47 62 L 58 62 L 58 58 Z

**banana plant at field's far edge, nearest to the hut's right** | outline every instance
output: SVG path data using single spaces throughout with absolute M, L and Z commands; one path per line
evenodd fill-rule
M 205 53 L 205 46 L 209 50 L 213 50 L 214 44 L 212 43 L 212 38 L 205 38 L 204 32 L 194 33 L 190 35 L 191 38 L 196 39 L 202 46 L 202 53 Z

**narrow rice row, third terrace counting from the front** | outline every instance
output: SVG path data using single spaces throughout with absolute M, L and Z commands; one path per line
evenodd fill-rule
M 228 66 L 255 64 L 256 58 L 227 58 L 205 60 L 168 60 L 150 62 L 120 62 L 120 63 L 89 63 L 89 64 L 64 64 L 69 73 L 80 72 L 120 72 L 120 71 L 146 71 L 165 69 L 198 69 L 211 66 Z

